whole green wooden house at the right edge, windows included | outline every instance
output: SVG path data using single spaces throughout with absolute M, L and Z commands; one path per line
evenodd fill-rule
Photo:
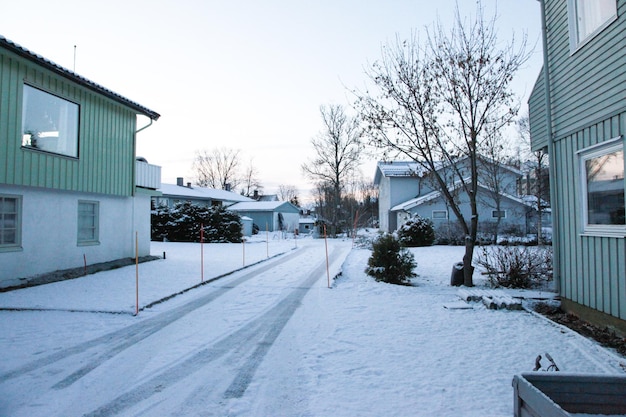
M 544 65 L 529 99 L 550 157 L 562 307 L 626 332 L 626 0 L 541 0 Z

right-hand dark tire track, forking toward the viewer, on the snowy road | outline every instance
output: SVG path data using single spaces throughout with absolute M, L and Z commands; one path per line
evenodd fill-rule
M 337 252 L 331 255 L 333 260 L 338 257 L 339 254 Z M 309 273 L 300 285 L 293 288 L 285 298 L 240 329 L 222 338 L 212 346 L 196 352 L 183 362 L 154 375 L 136 388 L 125 392 L 109 403 L 84 416 L 104 417 L 117 415 L 183 379 L 190 377 L 194 373 L 199 372 L 211 362 L 233 352 L 235 356 L 239 356 L 239 358 L 234 358 L 234 360 L 238 362 L 243 361 L 243 364 L 237 365 L 237 373 L 231 384 L 225 390 L 223 398 L 231 399 L 242 397 L 252 382 L 256 370 L 263 362 L 265 355 L 299 307 L 306 293 L 311 289 L 313 284 L 324 275 L 325 268 L 326 262 L 324 261 L 320 263 L 313 272 Z M 249 350 L 237 352 L 241 345 L 254 346 L 254 344 L 256 344 L 256 348 L 253 349 L 252 354 L 248 353 Z M 246 358 L 248 354 L 249 356 Z M 194 392 L 207 392 L 207 390 L 202 387 Z M 205 400 L 205 398 L 201 398 L 200 400 Z M 194 398 L 188 398 L 185 404 L 193 408 L 193 402 Z

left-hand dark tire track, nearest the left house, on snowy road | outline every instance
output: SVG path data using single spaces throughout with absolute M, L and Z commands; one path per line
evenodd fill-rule
M 265 264 L 259 268 L 256 268 L 253 271 L 250 271 L 247 274 L 241 276 L 240 278 L 237 278 L 228 286 L 217 287 L 215 291 L 210 294 L 201 296 L 180 307 L 161 313 L 156 317 L 148 318 L 139 323 L 135 323 L 130 326 L 124 327 L 122 329 L 116 330 L 114 332 L 107 333 L 103 336 L 88 340 L 76 346 L 63 349 L 59 352 L 55 352 L 53 354 L 47 355 L 45 357 L 42 357 L 40 359 L 27 363 L 12 371 L 8 371 L 8 372 L 5 372 L 4 374 L 0 374 L 0 381 L 6 382 L 10 379 L 20 377 L 22 375 L 25 375 L 37 369 L 52 365 L 56 362 L 60 362 L 72 356 L 82 354 L 100 345 L 104 345 L 105 350 L 97 354 L 96 358 L 90 358 L 89 363 L 87 365 L 74 371 L 71 375 L 67 376 L 66 378 L 59 381 L 57 384 L 53 386 L 53 388 L 55 389 L 66 388 L 72 385 L 74 382 L 76 382 L 80 378 L 82 378 L 83 376 L 87 375 L 89 372 L 96 369 L 102 363 L 113 358 L 114 356 L 118 355 L 119 353 L 123 352 L 124 350 L 133 346 L 134 344 L 140 342 L 141 340 L 144 340 L 150 337 L 151 335 L 161 330 L 163 327 L 166 327 L 167 325 L 181 319 L 187 314 L 190 314 L 191 312 L 201 307 L 204 307 L 205 305 L 211 303 L 212 301 L 224 295 L 225 293 L 237 287 L 238 285 L 252 278 L 255 278 L 257 275 L 263 272 L 266 272 L 282 263 L 288 262 L 294 257 L 298 257 L 302 255 L 303 253 L 306 252 L 307 249 L 308 248 L 305 247 L 299 251 L 292 252 L 290 254 L 287 254 L 286 256 L 270 261 L 270 263 Z

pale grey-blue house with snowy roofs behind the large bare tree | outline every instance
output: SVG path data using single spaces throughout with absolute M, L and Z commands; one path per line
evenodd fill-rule
M 466 159 L 457 162 L 455 170 L 468 171 Z M 483 162 L 486 170 L 487 162 Z M 489 166 L 492 177 L 483 174 L 479 182 L 479 221 L 480 230 L 490 234 L 499 219 L 499 230 L 526 234 L 531 231 L 534 208 L 517 194 L 521 172 L 503 164 Z M 460 181 L 451 175 L 450 167 L 439 167 L 444 178 L 449 178 L 448 189 L 457 195 L 457 201 L 468 219 L 471 215 L 468 197 L 458 192 Z M 497 191 L 490 184 L 498 181 Z M 374 184 L 379 189 L 380 229 L 392 232 L 402 226 L 411 216 L 419 215 L 432 220 L 437 233 L 450 233 L 457 224 L 449 203 L 433 183 L 429 172 L 416 162 L 379 162 L 376 167 Z

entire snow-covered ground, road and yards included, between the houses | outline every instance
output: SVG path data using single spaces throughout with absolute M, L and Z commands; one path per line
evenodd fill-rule
M 531 371 L 539 354 L 548 352 L 566 372 L 624 374 L 626 360 L 536 314 L 489 310 L 480 303 L 446 308 L 459 303 L 458 289 L 449 284 L 461 247 L 412 249 L 419 276 L 415 286 L 405 287 L 377 283 L 365 275 L 368 250 L 352 248 L 350 240 L 329 241 L 335 259 L 329 274 L 341 275 L 328 288 L 323 240 L 302 239 L 296 245 L 293 240 L 260 238 L 245 246 L 205 245 L 205 281 L 240 269 L 244 262 L 258 263 L 138 316 L 133 315 L 134 266 L 1 293 L 0 308 L 35 310 L 0 311 L 0 416 L 511 416 L 512 378 Z M 165 260 L 139 265 L 140 308 L 201 281 L 200 245 L 153 243 L 154 255 L 164 251 Z M 306 256 L 295 257 L 299 252 Z M 209 366 L 213 359 L 202 356 L 205 346 L 234 335 L 229 329 L 248 317 L 265 317 L 278 298 L 302 289 L 303 277 L 312 271 L 317 278 L 311 289 L 303 289 L 298 298 L 291 296 L 297 308 L 271 341 L 265 336 L 250 342 L 255 346 L 245 346 L 244 336 L 233 339 L 241 343 L 242 352 L 229 351 L 223 371 L 193 368 L 186 383 L 180 383 L 184 376 L 168 373 L 171 364 L 179 364 L 180 372 L 193 358 L 198 368 Z M 150 320 L 161 323 L 161 317 L 201 297 L 216 297 L 219 291 L 228 293 L 210 303 L 210 309 L 186 314 L 184 325 L 183 320 L 172 321 L 162 326 L 166 331 L 160 329 L 158 337 L 141 339 L 141 349 L 95 347 L 109 343 L 98 339 L 101 336 Z M 198 339 L 198 326 L 205 329 L 203 339 Z M 176 347 L 166 350 L 170 341 Z M 69 355 L 78 346 L 85 346 L 91 356 L 77 353 L 74 361 L 80 364 L 75 364 Z M 246 368 L 252 371 L 243 376 L 245 388 L 232 394 L 238 376 L 231 375 L 228 366 L 238 355 L 247 358 L 246 349 L 264 346 L 266 351 L 257 356 L 262 360 Z M 208 382 L 214 373 L 216 382 Z M 98 385 L 102 379 L 107 389 Z M 196 385 L 198 380 L 207 384 L 204 391 Z M 129 400 L 135 397 L 143 402 Z M 98 408 L 123 401 L 131 405 L 118 412 Z M 90 414 L 92 410 L 102 411 Z

